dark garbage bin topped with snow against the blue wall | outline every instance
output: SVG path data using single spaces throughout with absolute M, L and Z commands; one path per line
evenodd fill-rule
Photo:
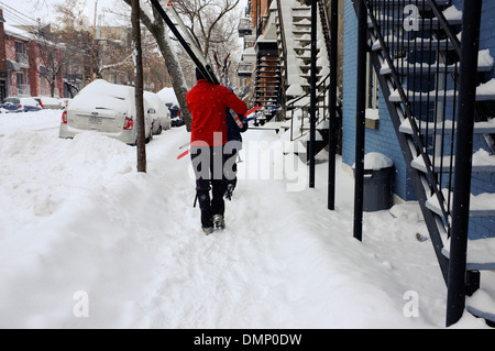
M 393 205 L 394 163 L 380 153 L 364 156 L 363 210 L 374 212 Z

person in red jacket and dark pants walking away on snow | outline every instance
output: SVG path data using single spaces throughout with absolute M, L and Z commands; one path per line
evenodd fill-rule
M 196 69 L 196 78 L 197 85 L 186 95 L 187 107 L 193 116 L 190 155 L 196 174 L 201 226 L 205 233 L 210 234 L 215 227 L 226 226 L 226 109 L 230 108 L 238 114 L 244 114 L 248 106 L 227 87 L 207 81 L 199 69 Z

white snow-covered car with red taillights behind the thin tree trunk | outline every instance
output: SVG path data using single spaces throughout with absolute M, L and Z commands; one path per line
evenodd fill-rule
M 145 112 L 151 108 L 144 100 Z M 153 139 L 153 119 L 144 113 L 146 141 Z M 62 113 L 59 138 L 69 139 L 85 131 L 97 131 L 135 145 L 136 113 L 134 88 L 97 79 L 74 97 Z

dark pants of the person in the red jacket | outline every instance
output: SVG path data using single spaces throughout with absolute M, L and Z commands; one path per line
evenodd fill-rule
M 193 146 L 193 168 L 196 175 L 196 194 L 201 210 L 201 226 L 213 227 L 212 217 L 226 211 L 223 195 L 227 189 L 223 166 L 226 155 L 222 146 Z M 211 190 L 211 197 L 210 197 Z

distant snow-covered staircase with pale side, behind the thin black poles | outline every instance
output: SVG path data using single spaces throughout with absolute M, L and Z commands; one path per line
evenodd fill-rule
M 316 128 L 317 138 L 315 153 L 328 145 L 328 87 L 329 87 L 329 31 L 324 4 L 319 2 L 319 28 L 317 45 L 317 101 Z M 296 152 L 302 161 L 307 161 L 309 125 L 310 125 L 310 66 L 311 66 L 311 7 L 304 1 L 289 4 L 277 1 L 278 52 L 283 58 L 282 76 L 285 78 L 282 90 L 286 97 L 285 118 L 290 120 L 290 140 L 301 147 Z M 284 10 L 284 11 L 283 11 Z M 290 13 L 284 19 L 283 12 Z M 324 14 L 324 15 L 323 15 Z M 288 44 L 287 44 L 288 43 Z M 290 77 L 287 78 L 287 72 Z M 296 72 L 297 70 L 297 72 Z

